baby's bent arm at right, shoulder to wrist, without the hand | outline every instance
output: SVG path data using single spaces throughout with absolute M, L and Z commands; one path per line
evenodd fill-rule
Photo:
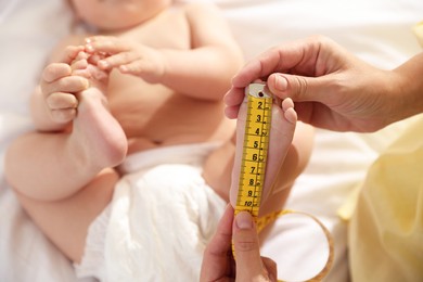
M 185 14 L 192 49 L 163 51 L 163 82 L 195 98 L 220 100 L 244 62 L 242 51 L 215 5 L 190 4 Z

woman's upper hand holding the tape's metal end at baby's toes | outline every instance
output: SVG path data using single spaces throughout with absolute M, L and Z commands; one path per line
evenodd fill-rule
M 316 127 L 374 131 L 409 115 L 398 73 L 375 68 L 321 36 L 272 48 L 246 64 L 225 98 L 228 117 L 236 117 L 244 88 L 257 79 L 291 98 L 298 118 Z

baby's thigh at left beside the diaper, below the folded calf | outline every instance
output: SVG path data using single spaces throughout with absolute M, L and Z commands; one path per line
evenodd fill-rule
M 47 238 L 69 259 L 80 262 L 88 228 L 112 201 L 118 174 L 106 168 L 76 194 L 54 202 L 16 193 L 24 209 Z

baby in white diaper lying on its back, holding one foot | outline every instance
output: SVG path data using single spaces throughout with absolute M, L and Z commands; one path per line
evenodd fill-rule
M 95 33 L 53 52 L 31 97 L 37 131 L 9 149 L 7 179 L 78 277 L 197 280 L 229 201 L 235 128 L 222 97 L 240 48 L 211 4 L 70 2 Z M 300 125 L 293 141 L 292 106 L 274 112 L 284 130 L 271 137 L 278 190 L 267 185 L 264 211 L 283 205 L 308 159 L 310 132 Z

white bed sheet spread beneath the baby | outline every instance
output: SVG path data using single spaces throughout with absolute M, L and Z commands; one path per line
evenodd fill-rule
M 421 0 L 213 1 L 222 9 L 247 60 L 271 46 L 315 34 L 330 36 L 384 68 L 420 51 L 411 27 L 423 20 Z M 63 2 L 0 0 L 1 159 L 11 140 L 31 128 L 27 99 L 46 55 L 70 23 Z M 325 281 L 348 281 L 347 226 L 336 216 L 337 208 L 406 124 L 373 134 L 317 130 L 310 164 L 296 181 L 287 207 L 313 214 L 332 232 L 335 262 Z M 2 171 L 1 162 L 0 281 L 81 281 L 21 209 Z M 316 225 L 298 217 L 279 220 L 262 247 L 265 255 L 278 261 L 280 278 L 295 280 L 316 273 L 325 252 Z

